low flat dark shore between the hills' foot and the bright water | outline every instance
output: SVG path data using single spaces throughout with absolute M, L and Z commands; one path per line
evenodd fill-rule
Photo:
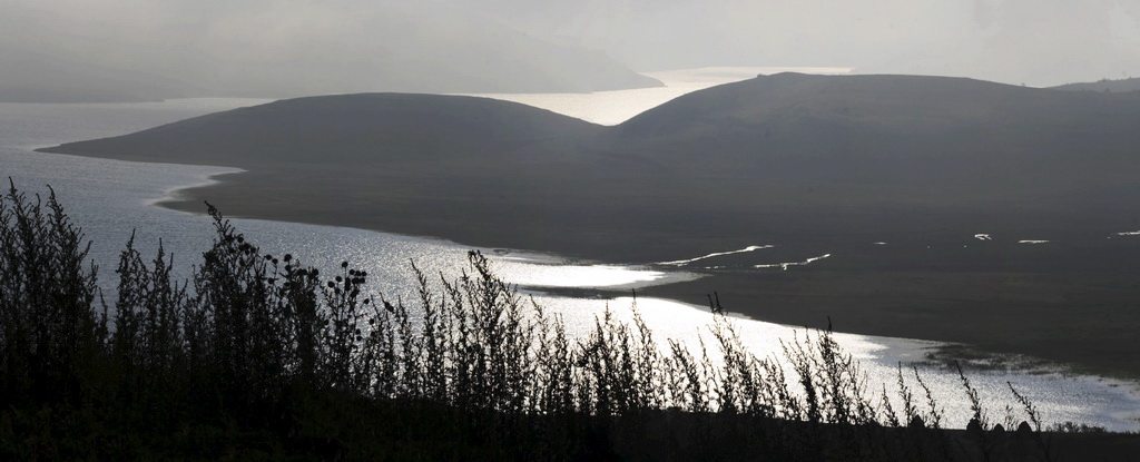
M 157 205 L 190 213 L 204 213 L 202 201 L 209 200 L 227 217 L 253 218 L 275 221 L 302 222 L 323 226 L 351 227 L 372 232 L 401 234 L 424 238 L 440 238 L 458 245 L 482 249 L 510 249 L 534 254 L 556 256 L 570 261 L 591 261 L 606 265 L 648 266 L 656 270 L 681 270 L 701 275 L 693 281 L 652 285 L 637 290 L 638 295 L 657 297 L 691 305 L 707 305 L 707 295 L 716 292 L 725 308 L 747 317 L 776 324 L 824 329 L 830 317 L 837 331 L 853 334 L 921 339 L 938 342 L 964 343 L 995 354 L 1024 354 L 1073 366 L 1074 372 L 1092 373 L 1125 380 L 1140 379 L 1138 355 L 1132 332 L 1140 326 L 1140 302 L 1134 277 L 1125 273 L 1104 274 L 1065 270 L 1008 270 L 963 271 L 959 268 L 937 267 L 866 268 L 852 251 L 838 257 L 819 260 L 808 266 L 788 270 L 731 271 L 677 268 L 652 265 L 674 261 L 670 254 L 638 252 L 641 259 L 605 259 L 606 249 L 594 249 L 581 243 L 562 241 L 556 249 L 542 249 L 539 242 L 527 235 L 499 229 L 492 236 L 473 232 L 455 224 L 414 221 L 397 224 L 365 219 L 343 220 L 337 213 L 304 214 L 290 208 L 259 208 L 256 200 L 243 201 L 253 195 L 255 186 L 246 186 L 243 177 L 255 172 L 219 179 L 209 186 L 181 188 L 179 200 Z M 246 193 L 247 192 L 247 193 Z M 326 195 L 327 196 L 327 195 Z M 209 198 L 207 198 L 209 197 Z M 327 198 L 327 197 L 325 197 Z M 242 204 L 235 209 L 227 204 Z M 382 206 L 377 209 L 383 210 Z M 351 217 L 349 217 L 351 218 Z M 464 230 L 467 232 L 464 232 Z M 491 237 L 491 238 L 486 238 Z M 542 241 L 542 240 L 538 240 Z M 1140 238 L 1135 240 L 1140 244 Z M 512 243 L 513 244 L 508 244 Z M 1118 240 L 1117 242 L 1124 242 Z M 722 249 L 743 249 L 723 243 Z M 1026 246 L 1023 248 L 1041 248 Z M 1140 245 L 1134 245 L 1140 249 Z M 874 245 L 883 249 L 887 245 Z M 1127 249 L 1132 249 L 1129 246 Z M 1101 249 L 1113 252 L 1113 249 Z M 692 252 L 703 256 L 714 252 Z M 896 252 L 898 253 L 898 252 Z M 902 252 L 905 253 L 905 252 Z M 645 256 L 654 258 L 644 258 Z M 626 254 L 628 256 L 628 253 Z M 905 256 L 904 256 L 905 257 Z M 944 256 L 945 257 L 945 256 Z M 999 256 L 1000 257 L 1000 256 Z M 1091 256 L 1093 258 L 1096 256 Z M 899 258 L 893 254 L 893 258 Z M 1065 259 L 1065 256 L 1059 257 Z M 651 260 L 646 262 L 645 260 Z M 792 261 L 782 260 L 781 261 Z M 962 261 L 968 265 L 969 261 Z M 1027 266 L 1033 266 L 1029 261 Z M 1023 265 L 1026 266 L 1026 265 Z M 1099 287 L 1105 287 L 1100 293 Z M 1123 289 L 1123 290 L 1122 290 Z M 543 287 L 553 293 L 559 289 Z M 564 290 L 561 290 L 564 291 Z M 573 290 L 577 293 L 603 295 L 627 294 L 624 290 Z M 1113 311 L 1090 319 L 1074 308 L 1074 294 L 1093 300 Z M 1112 308 L 1118 306 L 1121 309 Z M 972 322 L 971 322 L 972 321 Z

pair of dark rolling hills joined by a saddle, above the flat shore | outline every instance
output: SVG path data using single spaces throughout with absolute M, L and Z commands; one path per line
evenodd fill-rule
M 250 173 L 207 194 L 239 214 L 283 218 L 295 213 L 264 204 L 335 192 L 357 202 L 304 216 L 453 236 L 440 228 L 446 210 L 462 217 L 455 237 L 482 229 L 474 243 L 511 245 L 512 233 L 529 229 L 547 236 L 538 249 L 644 259 L 681 243 L 707 249 L 692 242 L 703 220 L 740 242 L 756 233 L 831 241 L 897 228 L 1039 229 L 1060 217 L 1098 230 L 1130 226 L 1140 204 L 1130 194 L 1140 178 L 1134 127 L 1140 99 L 1097 92 L 789 73 L 697 91 L 613 128 L 484 98 L 369 94 L 48 151 L 239 167 Z M 275 181 L 304 187 L 290 193 Z M 266 193 L 277 198 L 252 200 Z M 360 218 L 385 208 L 399 219 Z M 885 214 L 901 221 L 865 219 Z M 431 225 L 408 229 L 414 222 Z M 832 228 L 821 233 L 820 222 Z M 646 230 L 658 244 L 635 242 Z

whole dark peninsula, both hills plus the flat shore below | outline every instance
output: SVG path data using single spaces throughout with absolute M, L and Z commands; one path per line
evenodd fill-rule
M 1140 228 L 1135 127 L 1140 98 L 777 74 L 612 128 L 482 98 L 350 95 L 48 151 L 249 170 L 168 204 L 196 212 L 209 200 L 234 216 L 637 264 L 775 244 L 643 293 L 702 303 L 719 291 L 767 321 L 831 315 L 848 332 L 1140 376 L 1121 354 L 1140 329 L 1140 240 L 1106 240 Z

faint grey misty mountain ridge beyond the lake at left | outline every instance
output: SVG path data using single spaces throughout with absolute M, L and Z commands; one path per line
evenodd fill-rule
M 154 25 L 147 32 L 153 43 L 119 34 L 88 38 L 83 31 L 91 25 L 65 15 L 28 26 L 56 41 L 23 42 L 18 31 L 0 30 L 0 102 L 593 92 L 662 84 L 602 51 L 546 42 L 446 3 L 309 7 L 329 16 L 306 24 L 296 21 L 300 10 L 269 2 L 245 18 L 203 19 L 201 30 L 185 35 Z

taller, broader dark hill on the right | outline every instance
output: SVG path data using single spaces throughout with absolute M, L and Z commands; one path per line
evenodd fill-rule
M 747 181 L 741 192 L 817 187 L 793 192 L 797 203 L 1054 208 L 1115 200 L 1123 189 L 1113 188 L 1140 173 L 1138 123 L 1140 100 L 1105 95 L 969 79 L 779 74 L 677 98 L 598 146 L 686 178 Z

